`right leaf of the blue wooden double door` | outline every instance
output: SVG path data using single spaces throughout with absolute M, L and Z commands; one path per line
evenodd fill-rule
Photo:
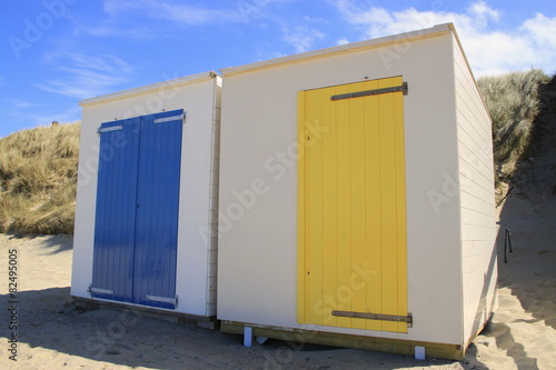
M 133 276 L 139 304 L 175 307 L 182 121 L 171 117 L 179 114 L 141 119 Z

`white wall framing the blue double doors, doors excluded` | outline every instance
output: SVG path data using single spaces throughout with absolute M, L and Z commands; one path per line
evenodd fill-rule
M 90 298 L 87 291 L 92 279 L 95 210 L 97 194 L 99 136 L 102 122 L 183 109 L 180 204 L 178 226 L 177 286 L 179 296 L 176 311 L 190 314 L 215 314 L 215 268 L 210 267 L 217 246 L 208 246 L 200 228 L 208 230 L 210 201 L 218 189 L 212 187 L 214 151 L 218 149 L 219 121 L 215 104 L 219 101 L 220 78 L 200 73 L 192 78 L 170 80 L 156 86 L 133 89 L 82 102 L 82 122 L 79 154 L 79 178 L 73 242 L 71 294 Z M 212 206 L 214 208 L 214 206 Z M 212 241 L 215 241 L 212 239 Z M 214 250 L 210 254 L 209 250 Z M 209 281 L 209 278 L 212 280 Z M 207 304 L 209 303 L 209 304 Z M 212 307 L 210 307 L 212 303 Z

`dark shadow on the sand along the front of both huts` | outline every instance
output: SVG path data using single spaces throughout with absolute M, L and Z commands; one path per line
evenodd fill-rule
M 8 302 L 10 297 L 3 294 L 0 299 Z M 147 313 L 110 308 L 81 312 L 72 304 L 69 287 L 23 291 L 17 300 L 18 362 L 22 364 L 33 356 L 34 348 L 52 350 L 49 364 L 59 361 L 60 368 L 68 361 L 63 354 L 155 369 L 420 369 L 454 363 L 279 340 L 245 348 L 240 336 L 178 324 Z M 9 312 L 2 311 L 1 320 L 7 322 Z M 10 333 L 7 326 L 0 327 L 2 337 Z

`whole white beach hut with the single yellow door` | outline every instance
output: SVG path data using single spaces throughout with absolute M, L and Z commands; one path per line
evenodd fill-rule
M 496 222 L 453 24 L 222 73 L 222 330 L 461 357 L 495 309 Z

